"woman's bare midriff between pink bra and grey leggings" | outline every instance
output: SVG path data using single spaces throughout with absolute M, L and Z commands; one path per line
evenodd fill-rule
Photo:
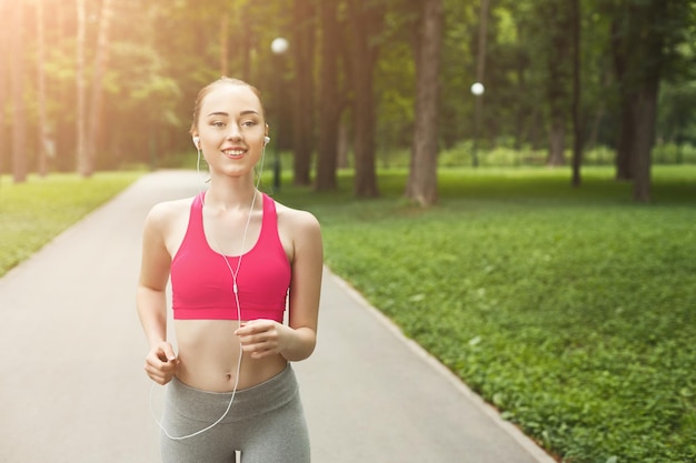
M 179 381 L 203 391 L 233 391 L 241 350 L 235 334 L 238 326 L 236 320 L 175 320 Z M 259 360 L 243 354 L 237 390 L 270 380 L 282 372 L 287 363 L 280 354 Z

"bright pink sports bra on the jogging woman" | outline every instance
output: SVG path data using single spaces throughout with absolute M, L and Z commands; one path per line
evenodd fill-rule
M 237 320 L 232 275 L 203 231 L 205 193 L 191 204 L 189 224 L 171 261 L 172 310 L 176 320 Z M 227 256 L 237 269 L 239 256 Z M 264 194 L 261 232 L 243 254 L 237 275 L 241 320 L 270 319 L 282 323 L 290 264 L 278 235 L 276 203 Z

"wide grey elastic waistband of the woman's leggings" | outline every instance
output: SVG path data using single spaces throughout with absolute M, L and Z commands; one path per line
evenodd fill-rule
M 248 420 L 281 407 L 299 394 L 295 371 L 285 370 L 261 384 L 237 391 L 229 412 L 221 423 Z M 209 392 L 183 384 L 176 376 L 169 382 L 166 407 L 191 420 L 215 422 L 227 410 L 231 392 Z

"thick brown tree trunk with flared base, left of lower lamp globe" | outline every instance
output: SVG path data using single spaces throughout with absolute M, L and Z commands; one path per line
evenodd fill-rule
M 416 123 L 406 197 L 420 205 L 437 202 L 439 67 L 443 1 L 422 0 L 416 49 Z

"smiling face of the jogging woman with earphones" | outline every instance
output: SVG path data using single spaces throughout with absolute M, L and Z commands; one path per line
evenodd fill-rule
M 211 89 L 201 101 L 197 128 L 211 172 L 249 173 L 264 151 L 264 109 L 247 85 L 226 83 Z

